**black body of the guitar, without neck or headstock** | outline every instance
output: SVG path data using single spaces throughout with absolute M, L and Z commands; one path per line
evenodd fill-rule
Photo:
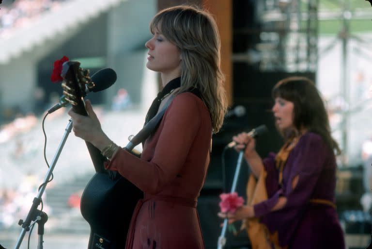
M 81 197 L 81 215 L 91 227 L 88 249 L 124 249 L 130 220 L 143 192 L 121 175 L 97 172 Z

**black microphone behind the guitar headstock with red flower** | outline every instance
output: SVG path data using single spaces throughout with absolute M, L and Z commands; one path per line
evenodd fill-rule
M 112 68 L 103 68 L 92 75 L 91 80 L 94 82 L 94 87 L 89 89 L 87 86 L 85 86 L 85 92 L 83 92 L 83 97 L 87 96 L 90 92 L 99 92 L 102 90 L 105 90 L 109 88 L 111 85 L 113 85 L 116 82 L 116 72 Z M 52 113 L 57 111 L 63 106 L 68 105 L 69 102 L 65 100 L 65 96 L 62 95 L 60 98 L 60 102 L 56 105 L 54 105 L 52 108 L 48 110 L 48 113 Z

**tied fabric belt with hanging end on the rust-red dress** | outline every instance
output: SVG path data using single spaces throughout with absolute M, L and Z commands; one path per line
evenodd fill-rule
M 126 236 L 125 242 L 125 249 L 132 249 L 133 248 L 133 240 L 134 240 L 134 225 L 136 224 L 137 216 L 140 213 L 140 209 L 146 201 L 149 200 L 161 200 L 166 202 L 171 202 L 173 205 L 181 205 L 196 208 L 198 201 L 195 199 L 187 199 L 187 198 L 180 198 L 180 197 L 171 197 L 171 196 L 146 196 L 143 199 L 140 199 L 137 202 L 136 207 L 134 208 L 132 219 L 130 220 L 128 234 Z

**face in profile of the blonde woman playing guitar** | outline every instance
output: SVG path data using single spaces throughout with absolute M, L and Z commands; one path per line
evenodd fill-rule
M 150 70 L 180 76 L 180 51 L 158 30 L 145 44 L 149 49 L 147 68 Z

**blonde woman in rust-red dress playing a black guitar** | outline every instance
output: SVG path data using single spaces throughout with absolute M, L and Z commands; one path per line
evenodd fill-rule
M 106 168 L 118 171 L 144 192 L 125 248 L 202 249 L 196 203 L 210 161 L 212 133 L 220 129 L 226 112 L 219 34 L 210 14 L 185 5 L 157 13 L 150 31 L 153 37 L 145 44 L 146 66 L 160 72 L 164 88 L 145 122 L 171 95 L 175 97 L 145 141 L 141 157 L 109 139 L 89 101 L 88 117 L 72 110 L 69 115 L 75 135 L 109 158 Z M 107 148 L 113 149 L 108 153 Z

